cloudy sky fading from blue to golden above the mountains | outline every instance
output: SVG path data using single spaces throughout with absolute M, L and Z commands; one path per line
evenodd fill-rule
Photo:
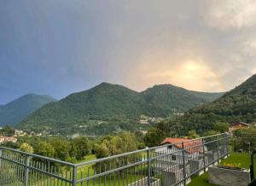
M 101 82 L 224 91 L 256 73 L 256 1 L 0 1 L 0 104 Z

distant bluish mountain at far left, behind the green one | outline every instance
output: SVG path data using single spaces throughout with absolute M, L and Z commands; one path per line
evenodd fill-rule
M 28 94 L 0 106 L 0 125 L 15 125 L 46 103 L 55 102 L 50 96 Z

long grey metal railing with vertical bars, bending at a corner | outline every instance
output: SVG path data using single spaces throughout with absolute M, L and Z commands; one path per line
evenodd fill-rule
M 0 185 L 185 185 L 228 154 L 227 133 L 80 164 L 0 148 Z

